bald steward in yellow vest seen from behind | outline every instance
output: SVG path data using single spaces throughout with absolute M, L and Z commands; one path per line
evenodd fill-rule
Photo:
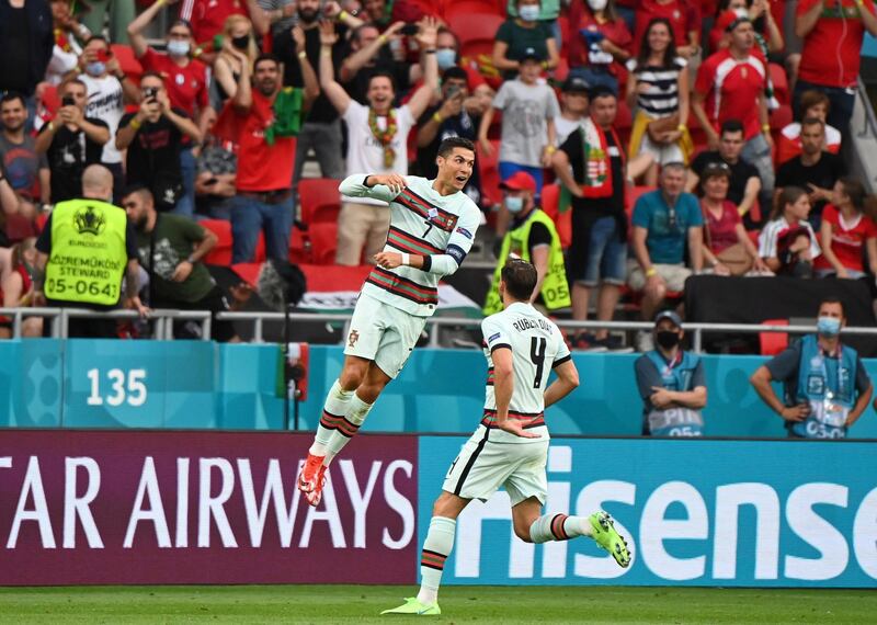
M 122 277 L 126 276 L 125 304 L 144 314 L 137 296 L 134 228 L 125 211 L 106 201 L 113 195 L 112 173 L 102 166 L 89 166 L 82 174 L 82 195 L 56 204 L 36 241 L 34 303 L 106 310 L 122 299 Z M 79 320 L 70 320 L 71 337 L 115 334 L 112 320 L 73 321 Z M 75 331 L 80 326 L 84 331 Z

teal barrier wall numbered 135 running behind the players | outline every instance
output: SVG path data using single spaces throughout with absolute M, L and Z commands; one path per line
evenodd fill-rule
M 341 348 L 310 345 L 299 428 L 317 425 L 341 370 Z M 582 385 L 548 411 L 557 434 L 636 435 L 642 402 L 636 354 L 574 353 Z M 709 436 L 784 438 L 783 421 L 749 376 L 762 356 L 703 356 Z M 877 378 L 877 360 L 865 360 Z M 275 344 L 210 341 L 0 341 L 0 427 L 285 430 L 282 356 Z M 369 432 L 468 432 L 481 414 L 479 350 L 418 349 L 368 416 Z M 779 391 L 779 385 L 776 386 Z M 850 430 L 877 439 L 867 408 Z

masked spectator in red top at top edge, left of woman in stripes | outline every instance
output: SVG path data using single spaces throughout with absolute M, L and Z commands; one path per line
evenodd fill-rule
M 569 24 L 569 75 L 618 93 L 618 64 L 630 58 L 633 37 L 615 0 L 571 0 Z

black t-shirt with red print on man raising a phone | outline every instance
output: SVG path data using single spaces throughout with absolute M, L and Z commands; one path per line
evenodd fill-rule
M 173 112 L 189 117 L 181 109 Z M 119 128 L 128 125 L 135 113 L 127 113 L 118 123 Z M 164 195 L 164 189 L 182 183 L 180 170 L 180 149 L 183 133 L 164 115 L 157 122 L 144 122 L 134 140 L 128 146 L 126 181 L 128 184 L 143 184 L 152 191 L 157 201 Z

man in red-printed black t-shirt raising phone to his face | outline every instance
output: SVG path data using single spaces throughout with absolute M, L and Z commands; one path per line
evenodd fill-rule
M 116 148 L 127 149 L 127 184 L 146 186 L 158 211 L 172 211 L 183 194 L 180 150 L 183 137 L 201 143 L 201 132 L 182 109 L 172 107 L 164 81 L 147 71 L 140 78 L 140 110 L 118 123 Z

